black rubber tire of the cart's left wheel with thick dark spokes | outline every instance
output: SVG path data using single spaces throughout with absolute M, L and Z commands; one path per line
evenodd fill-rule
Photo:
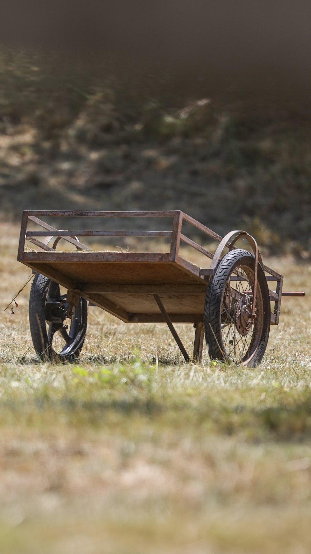
M 74 315 L 69 319 L 69 330 L 56 329 L 64 338 L 65 345 L 55 350 L 53 335 L 51 340 L 46 330 L 46 299 L 50 291 L 59 291 L 59 285 L 42 274 L 36 274 L 32 283 L 29 296 L 29 326 L 32 335 L 34 349 L 41 360 L 53 360 L 59 362 L 72 362 L 76 360 L 82 350 L 87 326 L 87 302 L 79 299 L 78 307 L 74 307 Z M 61 298 L 65 301 L 65 295 Z M 59 350 L 59 351 L 58 351 Z

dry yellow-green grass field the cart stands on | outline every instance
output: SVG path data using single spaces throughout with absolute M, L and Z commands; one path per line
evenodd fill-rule
M 0 551 L 311 551 L 310 271 L 284 273 L 260 367 L 184 364 L 169 330 L 89 310 L 78 365 L 38 362 L 18 228 L 0 228 Z M 178 326 L 185 346 L 191 326 Z

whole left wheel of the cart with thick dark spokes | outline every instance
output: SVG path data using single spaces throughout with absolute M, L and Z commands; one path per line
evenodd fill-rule
M 37 273 L 30 290 L 29 324 L 35 351 L 42 360 L 75 360 L 85 339 L 87 302 L 80 297 L 69 312 L 60 286 Z

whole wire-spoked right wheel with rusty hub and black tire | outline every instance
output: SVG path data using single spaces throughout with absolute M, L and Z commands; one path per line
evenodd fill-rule
M 265 353 L 270 330 L 270 299 L 258 263 L 253 311 L 255 257 L 231 250 L 219 260 L 206 291 L 205 340 L 211 359 L 255 367 Z

